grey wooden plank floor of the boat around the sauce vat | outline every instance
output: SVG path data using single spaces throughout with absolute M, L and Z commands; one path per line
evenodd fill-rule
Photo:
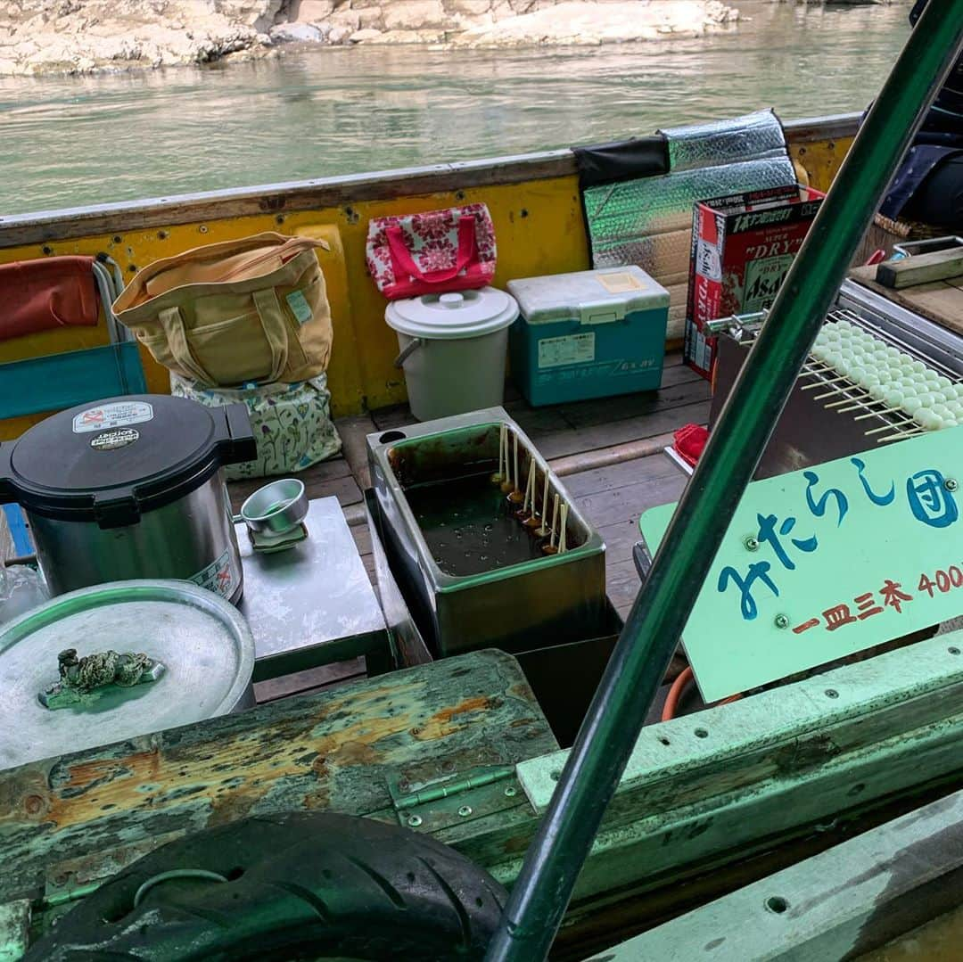
M 681 354 L 665 358 L 662 388 L 644 394 L 600 401 L 530 407 L 509 387 L 505 407 L 549 460 L 586 455 L 627 442 L 658 438 L 683 425 L 705 424 L 709 417 L 709 384 L 682 363 Z M 414 419 L 406 405 L 375 411 L 337 423 L 344 455 L 309 468 L 299 477 L 311 498 L 336 497 L 351 523 L 351 532 L 374 580 L 371 536 L 364 523 L 362 490 L 368 486 L 365 435 L 403 427 Z M 625 614 L 636 596 L 638 576 L 632 546 L 638 540 L 638 516 L 649 507 L 678 500 L 686 476 L 669 458 L 657 453 L 610 467 L 579 471 L 563 479 L 586 518 L 605 538 L 609 595 Z M 263 480 L 237 481 L 231 487 L 234 509 Z

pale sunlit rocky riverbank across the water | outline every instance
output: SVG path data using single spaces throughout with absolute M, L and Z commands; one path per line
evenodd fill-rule
M 286 43 L 596 45 L 738 19 L 719 0 L 0 0 L 0 74 L 204 64 Z

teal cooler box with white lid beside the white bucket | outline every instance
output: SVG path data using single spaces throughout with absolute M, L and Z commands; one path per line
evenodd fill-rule
M 662 382 L 668 291 L 638 267 L 509 280 L 511 374 L 525 400 L 585 401 Z

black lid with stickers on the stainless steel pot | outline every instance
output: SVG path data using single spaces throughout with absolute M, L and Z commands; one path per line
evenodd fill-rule
M 129 395 L 78 404 L 3 445 L 0 501 L 116 528 L 255 456 L 243 404 Z

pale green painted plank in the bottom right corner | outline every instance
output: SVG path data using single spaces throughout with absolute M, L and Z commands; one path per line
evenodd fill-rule
M 960 903 L 963 793 L 606 950 L 589 962 L 850 959 Z

